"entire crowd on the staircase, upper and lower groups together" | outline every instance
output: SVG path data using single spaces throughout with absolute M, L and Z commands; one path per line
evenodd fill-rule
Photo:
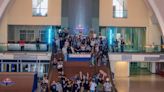
M 58 71 L 58 81 L 52 81 L 50 89 L 52 92 L 111 92 L 112 85 L 103 70 L 94 75 L 79 72 L 71 78 L 64 74 L 64 61 L 67 61 L 68 54 L 90 53 L 91 65 L 100 66 L 107 64 L 108 45 L 107 39 L 99 36 L 69 35 L 68 31 L 58 33 L 52 43 L 52 53 L 61 51 L 63 58 L 53 58 L 54 69 Z M 47 80 L 46 78 L 43 78 Z M 45 83 L 45 82 L 44 82 Z M 46 84 L 46 83 L 45 83 Z M 48 84 L 48 83 L 47 83 Z

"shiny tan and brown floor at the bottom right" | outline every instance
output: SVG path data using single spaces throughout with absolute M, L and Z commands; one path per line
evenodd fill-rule
M 164 92 L 164 77 L 157 75 L 116 78 L 118 92 Z

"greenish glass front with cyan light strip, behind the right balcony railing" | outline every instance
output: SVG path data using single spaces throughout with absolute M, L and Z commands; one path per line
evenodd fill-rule
M 145 47 L 145 28 L 110 27 L 108 30 L 108 43 L 113 52 L 121 51 L 121 40 L 124 42 L 124 51 L 141 52 Z

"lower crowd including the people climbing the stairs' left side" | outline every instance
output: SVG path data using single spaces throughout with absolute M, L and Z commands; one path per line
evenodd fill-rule
M 58 70 L 59 80 L 52 81 L 50 86 L 52 92 L 111 92 L 112 90 L 107 73 L 103 70 L 93 76 L 90 76 L 89 73 L 79 72 L 79 74 L 67 78 L 64 74 L 61 58 L 53 65 Z

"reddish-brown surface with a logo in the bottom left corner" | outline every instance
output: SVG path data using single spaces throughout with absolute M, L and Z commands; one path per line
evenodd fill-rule
M 34 73 L 0 73 L 0 82 L 10 78 L 14 85 L 0 85 L 0 92 L 32 92 Z

